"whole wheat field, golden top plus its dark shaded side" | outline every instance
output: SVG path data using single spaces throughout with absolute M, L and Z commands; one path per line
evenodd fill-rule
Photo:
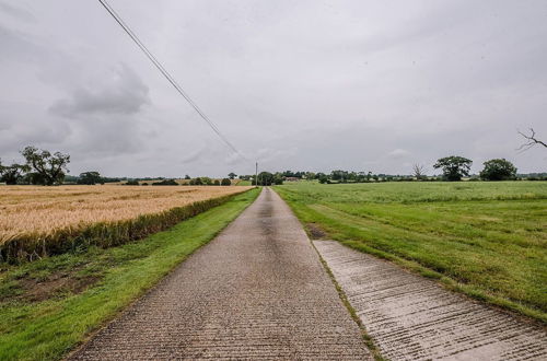
M 248 188 L 3 186 L 0 254 L 3 258 L 28 258 L 33 254 L 62 253 L 84 243 L 116 245 L 173 225 Z M 188 208 L 196 205 L 199 209 Z

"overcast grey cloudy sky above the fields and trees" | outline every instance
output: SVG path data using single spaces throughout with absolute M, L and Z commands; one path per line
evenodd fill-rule
M 71 174 L 473 171 L 547 139 L 547 1 L 109 0 L 233 154 L 96 0 L 0 0 L 0 158 Z

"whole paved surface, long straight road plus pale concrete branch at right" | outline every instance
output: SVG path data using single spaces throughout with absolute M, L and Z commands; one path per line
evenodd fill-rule
M 69 359 L 373 360 L 319 254 L 388 359 L 547 359 L 540 325 L 338 243 L 314 244 L 264 188 Z

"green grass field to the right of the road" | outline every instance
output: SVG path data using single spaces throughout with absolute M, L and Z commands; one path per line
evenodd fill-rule
M 547 322 L 546 182 L 301 182 L 275 189 L 312 236 Z

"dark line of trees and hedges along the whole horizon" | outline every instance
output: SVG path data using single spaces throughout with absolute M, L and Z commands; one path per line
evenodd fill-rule
M 67 165 L 70 163 L 70 155 L 61 152 L 51 153 L 47 150 L 39 150 L 36 147 L 28 145 L 21 151 L 24 158 L 24 163 L 12 163 L 3 165 L 0 160 L 0 182 L 8 185 L 15 184 L 33 184 L 33 185 L 59 185 L 67 178 L 71 183 L 94 185 L 113 182 L 127 180 L 126 185 L 178 185 L 175 179 L 166 178 L 108 178 L 103 177 L 98 172 L 83 172 L 78 177 L 67 176 Z M 441 158 L 433 164 L 433 168 L 441 170 L 442 176 L 428 177 L 424 166 L 415 164 L 412 166 L 412 175 L 410 176 L 393 176 L 386 174 L 372 174 L 372 172 L 348 172 L 336 170 L 330 173 L 314 173 L 304 171 L 284 171 L 284 172 L 260 172 L 255 175 L 240 175 L 242 180 L 251 180 L 252 185 L 280 185 L 283 180 L 292 179 L 317 179 L 319 183 L 365 183 L 365 182 L 391 182 L 391 180 L 461 180 L 463 177 L 469 176 L 473 161 L 458 155 Z M 228 174 L 226 178 L 221 180 L 210 177 L 191 178 L 186 175 L 188 185 L 218 185 L 229 186 L 231 180 L 235 179 L 235 173 Z M 479 173 L 479 178 L 484 180 L 510 180 L 516 179 L 516 167 L 505 159 L 492 159 L 484 163 L 484 168 Z M 542 178 L 542 177 L 539 177 Z M 141 182 L 139 182 L 141 180 Z M 142 182 L 147 180 L 147 182 Z M 153 180 L 153 182 L 152 182 Z

